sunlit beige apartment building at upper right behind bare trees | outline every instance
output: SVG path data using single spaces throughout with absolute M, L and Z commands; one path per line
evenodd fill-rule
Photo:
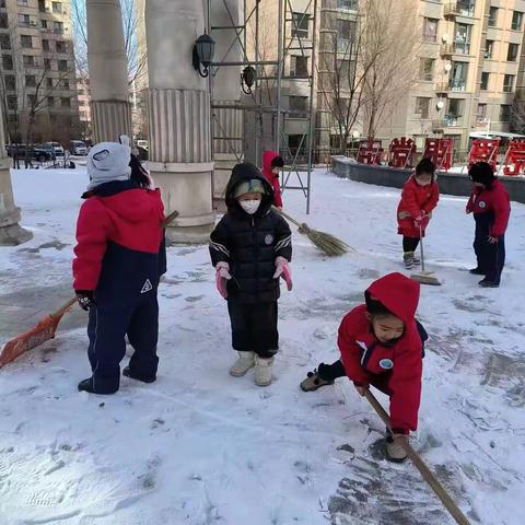
M 419 1 L 418 82 L 385 121 L 381 138 L 453 139 L 511 131 L 525 0 Z

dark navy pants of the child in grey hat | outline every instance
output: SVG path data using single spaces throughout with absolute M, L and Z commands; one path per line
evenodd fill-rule
M 96 300 L 96 296 L 95 296 Z M 120 383 L 120 361 L 126 355 L 126 340 L 135 349 L 129 360 L 131 375 L 154 380 L 159 358 L 159 303 L 156 289 L 141 294 L 133 301 L 97 303 L 90 310 L 88 355 L 93 371 L 95 392 L 114 392 Z

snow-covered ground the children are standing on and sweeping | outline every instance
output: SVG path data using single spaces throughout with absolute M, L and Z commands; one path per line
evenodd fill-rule
M 52 308 L 71 294 L 85 183 L 81 170 L 13 172 L 23 224 L 35 238 L 0 248 L 3 338 L 30 326 L 43 304 Z M 369 283 L 401 270 L 398 197 L 322 170 L 307 219 L 302 194 L 284 194 L 290 212 L 357 253 L 328 259 L 294 236 L 294 290 L 280 301 L 281 352 L 268 388 L 255 386 L 252 374 L 228 374 L 229 319 L 206 246 L 170 248 L 155 384 L 124 378 L 115 396 L 79 394 L 78 381 L 89 375 L 80 313 L 65 319 L 56 340 L 2 369 L 0 524 L 453 523 L 412 465 L 383 458 L 384 428 L 347 381 L 299 389 L 308 370 L 338 357 L 339 322 Z M 513 205 L 502 287 L 482 290 L 466 271 L 474 221 L 465 200 L 442 196 L 429 231 L 429 265 L 443 287 L 422 289 L 419 316 L 431 340 L 412 443 L 472 523 L 517 525 L 525 207 Z

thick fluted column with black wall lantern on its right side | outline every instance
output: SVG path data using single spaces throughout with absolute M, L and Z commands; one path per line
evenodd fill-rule
M 203 243 L 213 229 L 210 93 L 191 66 L 196 38 L 205 32 L 203 2 L 148 0 L 150 162 L 166 211 L 179 217 L 170 242 Z

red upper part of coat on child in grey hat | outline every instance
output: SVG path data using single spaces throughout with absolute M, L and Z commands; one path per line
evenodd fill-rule
M 104 185 L 106 186 L 106 185 Z M 90 195 L 90 194 L 86 194 Z M 108 196 L 88 197 L 77 222 L 73 259 L 74 290 L 96 290 L 110 243 L 125 248 L 124 270 L 140 260 L 141 254 L 156 254 L 163 238 L 164 207 L 159 189 L 127 189 Z M 143 260 L 143 257 L 142 257 Z M 140 264 L 140 262 L 137 262 Z M 132 273 L 132 271 L 131 271 Z

